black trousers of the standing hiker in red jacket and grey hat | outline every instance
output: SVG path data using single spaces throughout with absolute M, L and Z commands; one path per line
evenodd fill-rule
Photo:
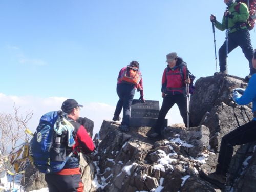
M 173 107 L 174 104 L 178 105 L 178 108 L 180 110 L 180 115 L 183 118 L 183 122 L 185 123 L 185 126 L 187 127 L 187 101 L 186 96 L 184 94 L 177 94 L 177 95 L 166 95 L 163 98 L 163 103 L 161 106 L 161 110 L 159 112 L 159 116 L 155 125 L 155 132 L 161 135 L 161 130 L 163 126 L 163 122 L 165 119 L 166 114 L 170 110 L 170 108 Z

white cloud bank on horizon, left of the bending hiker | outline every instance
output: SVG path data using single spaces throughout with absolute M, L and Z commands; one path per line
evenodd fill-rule
M 49 97 L 49 98 L 38 98 L 33 96 L 13 96 L 5 95 L 0 93 L 0 113 L 11 113 L 13 114 L 14 103 L 16 108 L 19 108 L 18 113 L 25 115 L 26 112 L 32 111 L 33 117 L 28 123 L 28 128 L 34 132 L 39 119 L 42 115 L 50 111 L 60 110 L 61 104 L 67 98 L 65 97 Z M 81 117 L 87 117 L 94 121 L 94 133 L 98 133 L 103 119 L 111 119 L 114 113 L 114 106 L 110 106 L 105 103 L 86 103 L 83 104 L 81 109 Z

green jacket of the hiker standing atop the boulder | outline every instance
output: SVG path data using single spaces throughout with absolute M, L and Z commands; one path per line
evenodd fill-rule
M 247 22 L 247 19 L 249 18 L 249 15 L 250 15 L 247 5 L 245 3 L 240 3 L 239 13 L 238 13 L 234 9 L 237 4 L 238 4 L 237 2 L 234 2 L 229 7 L 227 7 L 228 11 L 231 13 L 231 15 L 233 15 L 233 18 L 228 17 L 228 29 L 231 28 L 228 33 L 233 33 L 239 29 L 247 29 L 246 26 L 243 26 L 241 28 L 240 27 L 236 28 L 235 26 L 236 23 L 239 24 L 240 22 Z M 215 26 L 217 29 L 221 31 L 224 31 L 225 29 L 227 29 L 225 16 L 223 16 L 222 18 L 222 23 L 216 21 Z

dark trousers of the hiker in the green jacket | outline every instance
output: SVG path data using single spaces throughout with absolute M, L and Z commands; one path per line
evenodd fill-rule
M 228 34 L 228 53 L 238 46 L 242 48 L 246 59 L 249 61 L 250 75 L 254 74 L 256 70 L 253 68 L 251 62 L 254 51 L 251 46 L 250 33 L 247 29 L 238 30 Z M 219 49 L 219 63 L 220 71 L 225 71 L 227 69 L 226 41 Z

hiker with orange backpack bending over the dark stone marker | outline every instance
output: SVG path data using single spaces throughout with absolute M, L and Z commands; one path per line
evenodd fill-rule
M 123 132 L 129 131 L 129 121 L 131 115 L 131 105 L 135 94 L 135 89 L 140 92 L 140 100 L 145 102 L 143 94 L 142 75 L 139 70 L 139 63 L 132 61 L 126 67 L 123 67 L 117 78 L 117 95 L 119 100 L 114 112 L 113 121 L 119 121 L 120 113 L 123 109 L 123 118 L 119 129 Z

